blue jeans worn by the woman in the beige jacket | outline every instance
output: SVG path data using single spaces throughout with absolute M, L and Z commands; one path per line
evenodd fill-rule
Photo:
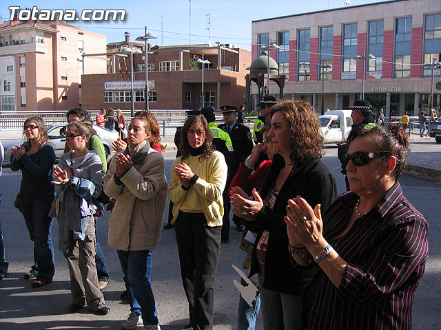
M 116 252 L 124 273 L 130 310 L 143 317 L 144 325 L 158 325 L 158 313 L 151 286 L 152 250 Z

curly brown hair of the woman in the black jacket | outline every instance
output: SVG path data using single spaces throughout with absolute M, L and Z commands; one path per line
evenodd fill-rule
M 288 100 L 272 107 L 271 117 L 278 111 L 283 113 L 288 123 L 291 161 L 305 157 L 322 157 L 323 137 L 314 108 L 305 101 Z

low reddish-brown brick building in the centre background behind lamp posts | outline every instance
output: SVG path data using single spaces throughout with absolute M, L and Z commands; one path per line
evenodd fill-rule
M 145 46 L 129 38 L 130 34 L 126 34 L 125 41 L 107 45 L 107 74 L 83 76 L 82 100 L 86 109 L 131 109 L 132 67 L 134 109 L 144 109 Z M 134 53 L 133 66 L 130 54 L 122 52 L 127 46 L 139 50 L 139 54 Z M 202 107 L 202 67 L 195 63 L 198 58 L 211 63 L 204 69 L 205 106 L 219 109 L 224 104 L 238 106 L 245 102 L 245 68 L 251 64 L 251 52 L 230 45 L 156 45 L 150 47 L 147 56 L 150 109 Z

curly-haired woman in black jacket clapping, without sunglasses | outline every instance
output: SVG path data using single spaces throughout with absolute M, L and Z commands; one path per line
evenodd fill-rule
M 258 273 L 260 309 L 267 329 L 300 329 L 302 294 L 314 270 L 291 266 L 283 217 L 287 201 L 303 195 L 309 203 L 331 205 L 336 181 L 320 161 L 323 139 L 316 111 L 303 101 L 285 101 L 271 108 L 271 169 L 254 200 L 236 190 L 231 197 L 234 214 L 258 234 L 249 276 Z M 261 197 L 260 197 L 261 196 Z

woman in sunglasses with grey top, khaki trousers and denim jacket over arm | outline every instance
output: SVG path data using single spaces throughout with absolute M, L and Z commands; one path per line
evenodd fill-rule
M 54 209 L 59 222 L 59 249 L 68 260 L 72 304 L 69 313 L 79 311 L 85 303 L 99 315 L 110 309 L 99 289 L 95 265 L 94 213 L 101 206 L 96 198 L 102 190 L 102 164 L 99 155 L 86 143 L 92 127 L 85 122 L 70 122 L 66 142 L 70 151 L 61 155 L 54 166 L 52 181 L 57 192 Z

